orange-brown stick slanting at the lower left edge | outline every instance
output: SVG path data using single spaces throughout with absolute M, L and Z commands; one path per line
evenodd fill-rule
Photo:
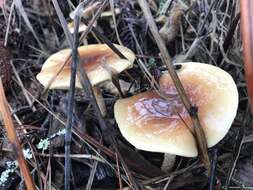
M 4 127 L 7 132 L 8 139 L 13 148 L 14 157 L 18 161 L 18 165 L 19 165 L 21 174 L 25 180 L 26 187 L 28 190 L 35 190 L 35 186 L 34 186 L 32 177 L 30 175 L 30 171 L 28 169 L 28 166 L 26 164 L 26 161 L 23 155 L 22 147 L 20 145 L 15 127 L 11 119 L 11 113 L 8 108 L 8 103 L 5 97 L 1 78 L 0 78 L 0 112 L 3 117 Z

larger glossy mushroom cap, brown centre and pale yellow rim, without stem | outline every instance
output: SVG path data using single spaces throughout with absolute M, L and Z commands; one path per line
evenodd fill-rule
M 178 76 L 192 104 L 198 106 L 208 147 L 212 147 L 226 135 L 236 116 L 236 85 L 227 72 L 203 63 L 183 63 Z M 169 74 L 162 75 L 159 82 L 169 100 L 150 90 L 115 103 L 120 131 L 138 149 L 195 157 L 198 152 L 190 116 Z

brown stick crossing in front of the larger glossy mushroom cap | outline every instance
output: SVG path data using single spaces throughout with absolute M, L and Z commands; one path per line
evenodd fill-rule
M 144 16 L 146 18 L 146 22 L 150 28 L 150 31 L 156 41 L 156 44 L 161 52 L 161 58 L 163 63 L 166 65 L 170 76 L 173 80 L 173 83 L 175 84 L 175 87 L 177 89 L 177 92 L 188 111 L 189 115 L 191 116 L 192 124 L 194 127 L 194 133 L 195 133 L 195 140 L 197 143 L 198 151 L 200 153 L 200 158 L 203 161 L 206 169 L 208 170 L 208 173 L 210 173 L 210 161 L 208 157 L 208 151 L 207 151 L 207 142 L 206 137 L 203 131 L 203 128 L 200 125 L 198 114 L 197 114 L 197 107 L 194 107 L 191 105 L 191 102 L 189 98 L 187 97 L 185 90 L 183 88 L 182 83 L 179 80 L 179 77 L 171 63 L 171 57 L 167 51 L 167 48 L 164 44 L 164 41 L 159 35 L 157 26 L 155 24 L 154 18 L 151 14 L 151 11 L 149 9 L 149 5 L 146 0 L 138 0 L 139 5 L 144 13 Z

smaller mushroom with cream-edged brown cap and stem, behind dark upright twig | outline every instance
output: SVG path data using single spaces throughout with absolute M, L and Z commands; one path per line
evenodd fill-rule
M 78 48 L 80 64 L 83 64 L 87 72 L 103 116 L 106 114 L 106 108 L 99 85 L 105 81 L 110 81 L 113 75 L 131 68 L 135 59 L 135 55 L 130 49 L 116 44 L 115 47 L 127 60 L 119 58 L 106 44 L 93 44 Z M 37 75 L 37 79 L 42 85 L 47 86 L 49 84 L 50 79 L 55 75 L 55 71 L 68 59 L 70 54 L 70 49 L 64 49 L 51 55 L 46 60 L 41 72 Z M 71 61 L 68 61 L 55 81 L 51 84 L 50 89 L 68 89 L 70 85 L 70 73 Z M 82 88 L 78 76 L 76 87 Z

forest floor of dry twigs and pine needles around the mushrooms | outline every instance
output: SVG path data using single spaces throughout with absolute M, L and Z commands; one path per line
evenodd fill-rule
M 125 97 L 153 89 L 154 80 L 167 70 L 141 1 L 86 1 L 80 24 L 94 22 L 95 29 L 88 27 L 77 36 L 80 45 L 121 44 L 134 52 L 133 67 L 115 79 Z M 253 189 L 253 123 L 243 68 L 239 1 L 146 1 L 172 64 L 208 63 L 228 72 L 236 83 L 237 115 L 223 140 L 208 149 L 211 174 L 199 157 L 176 156 L 171 167 L 162 170 L 163 153 L 131 145 L 115 121 L 114 104 L 122 98 L 117 89 L 101 88 L 105 117 L 99 116 L 94 97 L 83 89 L 76 89 L 73 99 L 73 90 L 45 91 L 36 76 L 50 55 L 71 49 L 74 36 L 68 36 L 63 21 L 73 22 L 70 13 L 78 0 L 58 0 L 59 7 L 55 0 L 0 0 L 0 74 L 6 107 L 37 189 L 64 188 L 64 128 L 70 120 L 71 167 L 67 172 L 71 189 Z M 15 161 L 8 130 L 0 120 L 0 189 L 23 189 L 26 177 Z

